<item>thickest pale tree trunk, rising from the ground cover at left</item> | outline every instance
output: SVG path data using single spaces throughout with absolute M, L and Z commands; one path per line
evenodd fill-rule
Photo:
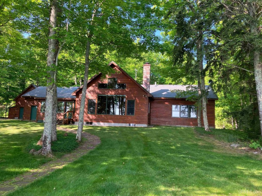
M 49 38 L 47 53 L 47 85 L 46 85 L 46 109 L 45 109 L 45 127 L 43 133 L 42 155 L 49 155 L 51 151 L 51 134 L 53 127 L 53 104 L 56 98 L 56 39 L 52 38 L 56 34 L 56 18 L 58 3 L 56 0 L 50 2 L 50 19 L 49 19 Z

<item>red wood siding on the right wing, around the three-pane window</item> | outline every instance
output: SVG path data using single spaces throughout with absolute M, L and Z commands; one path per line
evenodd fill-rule
M 153 125 L 197 126 L 196 118 L 172 117 L 172 105 L 194 105 L 195 102 L 178 99 L 155 99 L 151 101 L 151 120 Z M 215 100 L 208 100 L 207 118 L 210 127 L 215 127 Z M 202 125 L 204 125 L 202 117 Z

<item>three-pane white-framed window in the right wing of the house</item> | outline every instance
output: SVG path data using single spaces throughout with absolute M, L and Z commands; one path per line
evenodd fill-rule
M 195 105 L 172 105 L 172 117 L 196 118 Z

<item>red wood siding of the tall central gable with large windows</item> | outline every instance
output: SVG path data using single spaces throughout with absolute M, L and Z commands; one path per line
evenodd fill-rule
M 84 122 L 99 122 L 99 123 L 133 123 L 133 124 L 148 124 L 148 96 L 143 89 L 135 84 L 124 73 L 118 71 L 116 67 L 113 67 L 116 73 L 102 78 L 101 76 L 95 78 L 87 86 L 86 99 L 85 99 L 85 114 Z M 108 78 L 116 77 L 118 83 L 126 83 L 126 89 L 99 89 L 98 83 L 107 83 Z M 78 121 L 81 93 L 76 93 L 76 110 L 75 121 Z M 135 115 L 105 115 L 96 114 L 97 112 L 97 96 L 98 95 L 125 95 L 126 96 L 126 108 L 127 100 L 135 100 Z M 95 99 L 95 114 L 87 114 L 88 100 Z M 126 111 L 126 109 L 125 109 Z

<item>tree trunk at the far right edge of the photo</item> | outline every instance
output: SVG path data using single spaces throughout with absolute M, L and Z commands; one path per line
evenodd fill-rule
M 249 15 L 252 20 L 250 20 L 250 32 L 257 39 L 258 38 L 258 19 L 256 18 L 256 6 L 253 4 L 255 2 L 250 2 L 248 5 Z M 262 62 L 260 61 L 261 51 L 257 48 L 256 41 L 252 43 L 254 48 L 253 54 L 253 63 L 254 63 L 254 75 L 255 75 L 255 83 L 256 83 L 256 91 L 257 91 L 257 102 L 258 102 L 258 110 L 259 110 L 259 120 L 260 120 L 260 132 L 262 136 Z

